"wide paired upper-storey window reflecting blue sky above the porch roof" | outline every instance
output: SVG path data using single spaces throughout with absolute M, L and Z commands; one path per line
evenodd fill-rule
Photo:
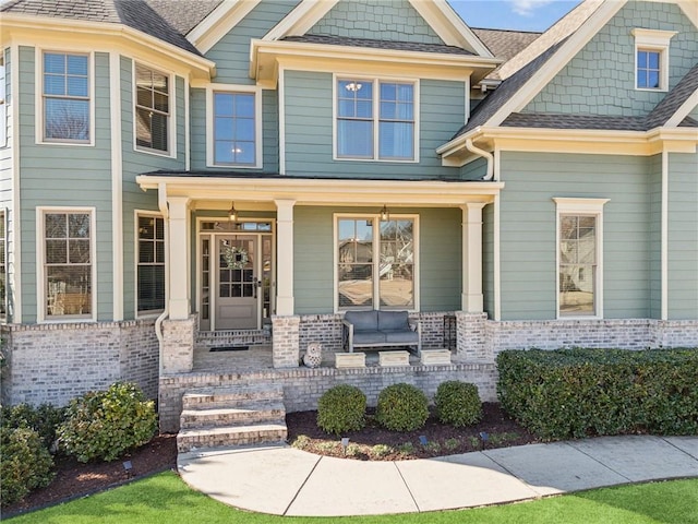
M 338 79 L 336 157 L 417 160 L 417 83 Z

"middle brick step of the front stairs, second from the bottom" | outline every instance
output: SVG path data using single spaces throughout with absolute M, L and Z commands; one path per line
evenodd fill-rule
M 213 428 L 284 420 L 286 407 L 278 400 L 241 401 L 234 407 L 184 409 L 181 429 Z

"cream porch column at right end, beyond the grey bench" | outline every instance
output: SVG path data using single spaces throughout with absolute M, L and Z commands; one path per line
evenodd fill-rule
M 481 313 L 482 298 L 482 209 L 485 203 L 473 202 L 462 210 L 462 294 L 460 307 L 468 313 Z

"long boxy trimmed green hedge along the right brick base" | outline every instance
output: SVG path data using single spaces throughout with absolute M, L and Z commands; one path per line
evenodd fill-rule
M 698 434 L 698 349 L 540 349 L 497 356 L 502 407 L 553 440 Z

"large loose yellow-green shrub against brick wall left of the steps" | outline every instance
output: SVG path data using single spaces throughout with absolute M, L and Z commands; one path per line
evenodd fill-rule
M 117 382 L 107 391 L 73 398 L 58 437 L 61 448 L 80 462 L 108 462 L 149 442 L 156 430 L 155 403 L 137 385 Z

